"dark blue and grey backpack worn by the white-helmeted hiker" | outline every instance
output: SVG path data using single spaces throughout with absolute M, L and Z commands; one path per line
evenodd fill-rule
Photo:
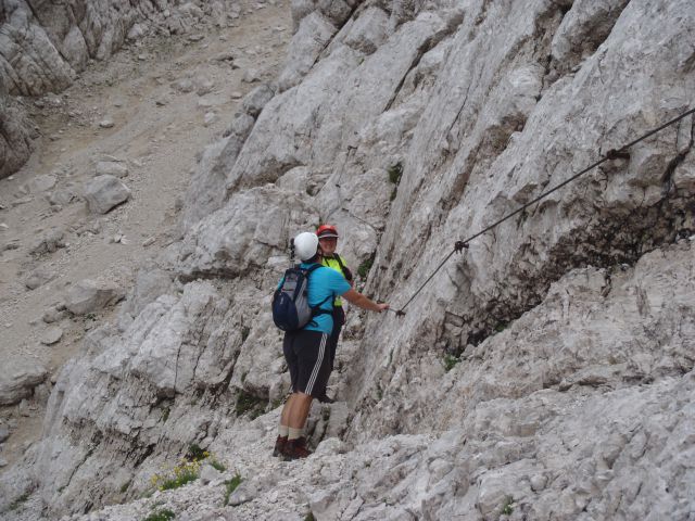
M 320 306 L 332 298 L 332 295 L 316 307 L 308 305 L 309 275 L 320 267 L 320 264 L 314 264 L 304 269 L 296 265 L 285 271 L 282 284 L 273 295 L 273 321 L 282 331 L 298 331 L 317 315 L 331 314 L 320 309 Z

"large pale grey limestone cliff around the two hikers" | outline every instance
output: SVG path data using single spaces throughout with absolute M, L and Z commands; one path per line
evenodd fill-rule
M 182 239 L 62 370 L 0 498 L 31 492 L 47 519 L 687 519 L 695 118 L 446 256 L 694 106 L 693 2 L 301 0 L 292 16 L 296 74 L 203 155 Z M 317 20 L 336 30 L 315 52 Z M 316 452 L 286 463 L 269 302 L 288 241 L 319 223 L 394 309 L 446 262 L 405 316 L 350 309 L 340 402 L 314 405 Z M 244 479 L 233 507 L 208 475 L 141 498 L 192 443 Z

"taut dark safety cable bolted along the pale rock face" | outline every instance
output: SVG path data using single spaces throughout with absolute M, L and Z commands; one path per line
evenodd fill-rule
M 586 168 L 584 168 L 583 170 L 581 170 L 578 174 L 574 174 L 572 177 L 570 177 L 569 179 L 564 180 L 563 182 L 560 182 L 559 185 L 556 185 L 555 187 L 551 188 L 549 190 L 541 193 L 539 196 L 536 196 L 535 199 L 533 199 L 532 201 L 519 206 L 517 209 L 515 209 L 514 212 L 505 215 L 504 217 L 502 217 L 501 219 L 496 220 L 495 223 L 493 223 L 492 225 L 483 228 L 482 230 L 478 231 L 477 233 L 473 233 L 472 236 L 470 236 L 468 239 L 463 240 L 463 241 L 456 241 L 454 243 L 454 250 L 452 250 L 448 255 L 446 255 L 444 257 L 444 259 L 439 264 L 439 266 L 437 266 L 437 268 L 434 268 L 434 271 L 432 271 L 432 274 L 425 280 L 425 282 L 422 282 L 420 284 L 420 287 L 415 291 L 415 293 L 413 293 L 413 295 L 410 296 L 410 298 L 407 300 L 407 302 L 401 307 L 401 309 L 399 310 L 394 310 L 394 313 L 396 314 L 396 316 L 402 317 L 405 315 L 405 308 L 408 306 L 408 304 L 410 304 L 410 302 L 413 302 L 415 300 L 415 297 L 420 293 L 420 291 L 422 291 L 422 289 L 429 283 L 430 280 L 432 280 L 432 277 L 434 277 L 434 275 L 437 275 L 437 272 L 442 268 L 442 266 L 444 266 L 444 264 L 446 263 L 446 260 L 448 260 L 451 258 L 452 255 L 454 255 L 454 253 L 462 253 L 464 250 L 468 249 L 468 244 L 470 243 L 470 241 L 472 241 L 473 239 L 479 238 L 480 236 L 495 229 L 496 227 L 498 227 L 500 225 L 502 225 L 503 223 L 505 223 L 506 220 L 510 219 L 511 217 L 514 217 L 517 214 L 520 214 L 521 212 L 523 212 L 526 208 L 528 208 L 529 206 L 538 203 L 539 201 L 541 201 L 542 199 L 547 198 L 551 193 L 559 190 L 560 188 L 565 187 L 566 185 L 569 185 L 570 182 L 579 179 L 581 176 L 583 176 L 584 174 L 586 174 L 587 171 L 593 170 L 594 168 L 596 168 L 597 166 L 599 166 L 601 164 L 607 162 L 607 161 L 615 161 L 615 160 L 629 160 L 630 158 L 630 152 L 628 152 L 628 149 L 634 147 L 635 144 L 637 144 L 641 141 L 644 141 L 645 139 L 654 136 L 657 132 L 660 132 L 661 130 L 664 130 L 665 128 L 670 127 L 671 125 L 680 122 L 681 119 L 683 119 L 684 117 L 687 117 L 688 115 L 695 113 L 695 109 L 691 109 L 684 113 L 682 113 L 680 116 L 674 117 L 673 119 L 665 123 L 664 125 L 661 125 L 660 127 L 657 127 L 653 130 L 649 130 L 647 134 L 645 134 L 644 136 L 639 137 L 637 139 L 635 139 L 634 141 L 629 142 L 628 144 L 621 147 L 620 149 L 611 149 L 608 152 L 606 152 L 604 154 L 604 156 L 596 161 L 595 163 L 591 164 L 590 166 L 587 166 Z M 391 309 L 389 309 L 391 310 Z

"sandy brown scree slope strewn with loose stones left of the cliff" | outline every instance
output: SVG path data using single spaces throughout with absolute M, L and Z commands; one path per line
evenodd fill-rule
M 292 24 L 289 0 L 271 3 L 242 2 L 241 17 L 230 27 L 131 45 L 108 63 L 90 65 L 66 91 L 34 101 L 42 138 L 29 163 L 0 180 L 0 370 L 43 364 L 54 378 L 79 352 L 87 331 L 115 318 L 112 308 L 42 320 L 81 279 L 102 278 L 127 290 L 139 266 L 173 240 L 197 154 L 220 137 L 242 96 L 258 85 L 244 75 L 277 76 Z M 113 126 L 100 126 L 105 119 Z M 123 181 L 131 198 L 106 215 L 90 214 L 84 186 L 99 161 L 114 158 L 129 170 Z M 42 175 L 54 176 L 55 187 L 31 188 Z M 58 192 L 76 198 L 51 205 L 48 196 Z M 52 229 L 63 231 L 64 247 L 31 254 Z M 28 290 L 25 280 L 37 268 L 55 277 Z M 42 336 L 55 326 L 63 330 L 61 340 L 43 345 Z M 20 406 L 0 408 L 0 430 L 11 433 L 0 444 L 0 467 L 40 436 L 48 392 L 39 387 Z

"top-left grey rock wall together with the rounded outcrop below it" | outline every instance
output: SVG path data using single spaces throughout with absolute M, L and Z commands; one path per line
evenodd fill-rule
M 60 92 L 89 60 L 106 60 L 127 40 L 150 31 L 181 34 L 197 21 L 230 10 L 235 0 L 0 0 L 0 178 L 16 171 L 36 138 L 10 97 Z

